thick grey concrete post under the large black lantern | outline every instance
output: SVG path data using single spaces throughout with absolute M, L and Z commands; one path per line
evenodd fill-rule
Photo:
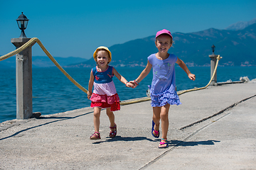
M 11 38 L 11 43 L 21 47 L 31 38 Z M 16 118 L 28 119 L 32 108 L 32 45 L 16 55 Z

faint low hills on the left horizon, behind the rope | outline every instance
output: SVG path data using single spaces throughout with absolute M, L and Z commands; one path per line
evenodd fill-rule
M 75 64 L 79 62 L 85 62 L 87 59 L 80 57 L 54 57 L 60 66 L 65 67 L 68 64 Z M 0 62 L 0 67 L 16 67 L 16 57 L 9 57 L 6 60 Z M 55 64 L 46 56 L 33 56 L 32 67 L 54 67 Z

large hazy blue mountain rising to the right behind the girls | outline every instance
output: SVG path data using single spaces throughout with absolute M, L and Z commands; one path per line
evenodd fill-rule
M 242 30 L 218 30 L 210 28 L 196 33 L 173 33 L 174 45 L 169 53 L 177 55 L 188 66 L 209 66 L 215 45 L 215 55 L 223 57 L 223 66 L 256 66 L 256 23 Z M 109 47 L 114 67 L 145 67 L 147 57 L 157 52 L 155 36 L 131 40 Z M 94 67 L 95 60 L 71 64 L 67 67 Z

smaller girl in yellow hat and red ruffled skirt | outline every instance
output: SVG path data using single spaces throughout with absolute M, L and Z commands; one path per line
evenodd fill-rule
M 127 87 L 131 87 L 133 84 L 128 83 L 114 67 L 108 65 L 112 55 L 107 47 L 97 47 L 93 58 L 97 62 L 97 66 L 92 68 L 87 91 L 87 98 L 92 101 L 91 107 L 94 108 L 93 123 L 95 132 L 90 136 L 90 139 L 100 140 L 100 111 L 102 108 L 106 108 L 107 116 L 110 119 L 110 137 L 117 135 L 117 125 L 114 123 L 113 111 L 120 110 L 120 103 L 112 78 L 116 76 Z M 92 86 L 94 86 L 93 93 Z

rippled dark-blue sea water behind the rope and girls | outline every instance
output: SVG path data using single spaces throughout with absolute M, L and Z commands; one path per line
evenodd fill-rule
M 143 67 L 117 67 L 117 72 L 127 81 L 136 79 Z M 181 67 L 176 67 L 177 91 L 203 87 L 210 81 L 210 67 L 188 67 L 196 74 L 196 81 L 188 79 Z M 75 81 L 88 89 L 91 68 L 65 68 Z M 239 81 L 240 77 L 256 78 L 256 67 L 218 67 L 217 81 Z M 62 113 L 90 106 L 87 94 L 78 89 L 56 67 L 33 68 L 33 112 L 42 115 Z M 116 77 L 114 84 L 121 101 L 146 96 L 148 85 L 151 84 L 152 72 L 140 82 L 137 88 L 127 88 Z M 16 118 L 16 70 L 0 68 L 0 123 Z

